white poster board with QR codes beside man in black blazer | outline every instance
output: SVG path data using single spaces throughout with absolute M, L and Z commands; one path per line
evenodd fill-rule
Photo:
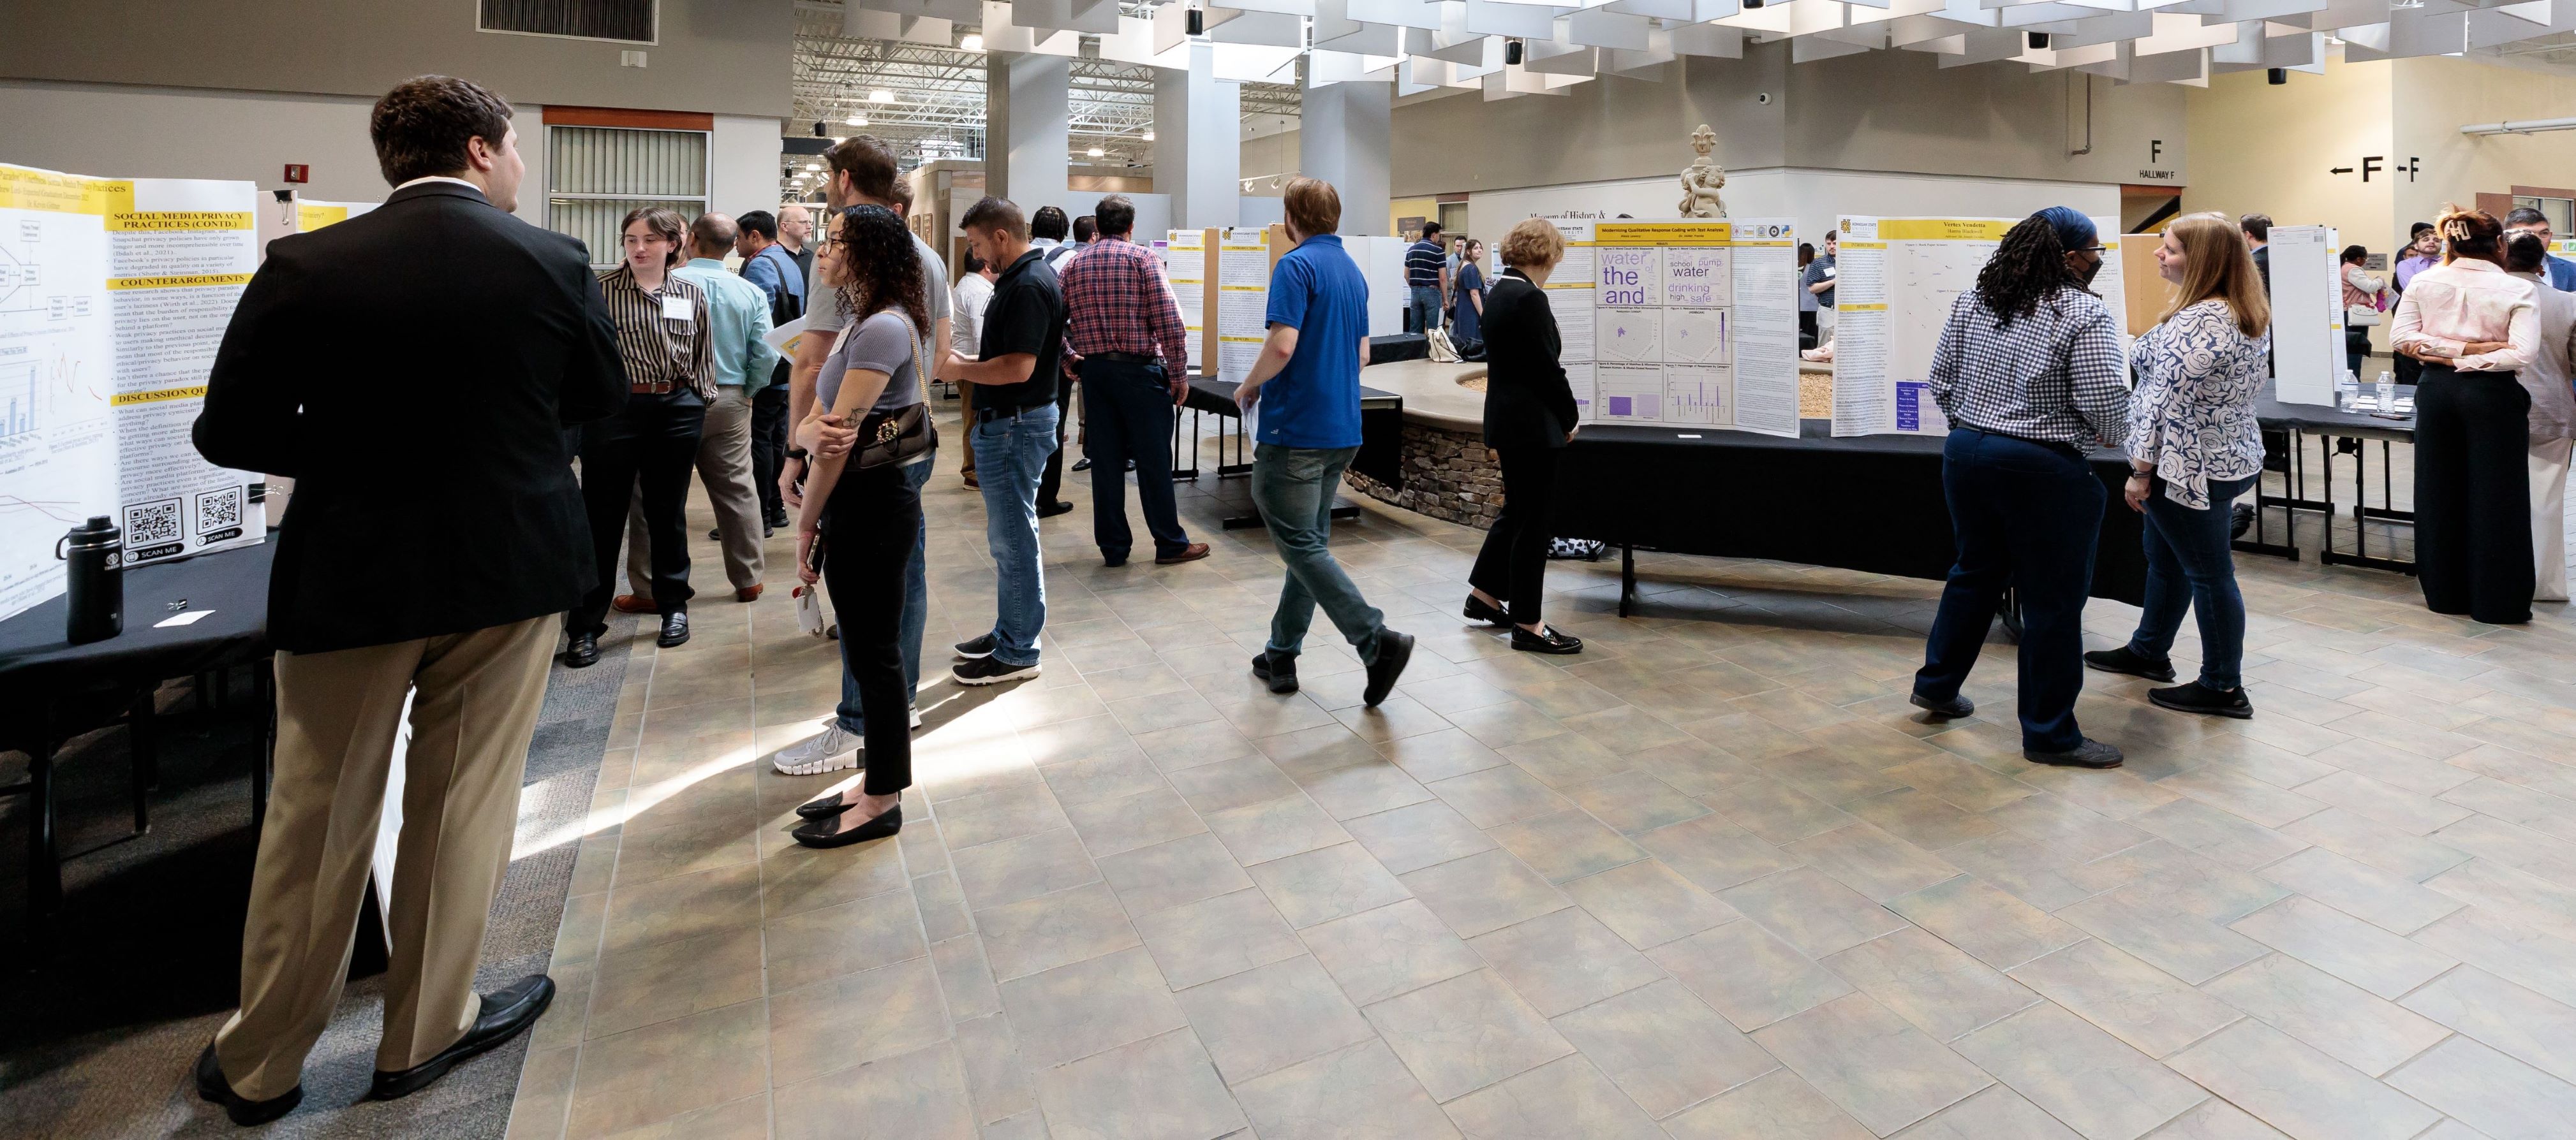
M 252 183 L 0 165 L 0 620 L 64 589 L 90 515 L 126 566 L 265 538 L 260 476 L 188 437 L 258 260 Z

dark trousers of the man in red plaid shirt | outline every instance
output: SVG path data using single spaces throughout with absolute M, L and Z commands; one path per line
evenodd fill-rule
M 1100 435 L 1090 414 L 1100 412 Z M 1136 504 L 1154 535 L 1154 556 L 1190 548 L 1172 502 L 1172 389 L 1162 365 L 1141 360 L 1082 360 L 1082 453 L 1092 458 L 1092 540 L 1108 558 L 1126 558 L 1136 533 L 1126 525 L 1126 461 L 1136 461 Z M 1059 450 L 1061 453 L 1061 450 Z M 1038 497 L 1046 502 L 1046 497 Z

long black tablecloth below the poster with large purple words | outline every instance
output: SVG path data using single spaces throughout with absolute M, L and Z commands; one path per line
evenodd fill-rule
M 1584 427 L 1558 471 L 1556 533 L 1721 558 L 1772 558 L 1906 579 L 1947 579 L 1958 558 L 1940 484 L 1940 437 L 1834 437 L 1826 419 L 1795 440 L 1672 427 Z M 2092 597 L 2146 597 L 2138 512 L 2120 499 L 2128 458 L 2092 455 L 2110 492 Z

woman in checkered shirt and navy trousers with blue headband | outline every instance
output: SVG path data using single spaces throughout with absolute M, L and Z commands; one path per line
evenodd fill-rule
M 2022 605 L 2022 757 L 2120 767 L 2120 749 L 2076 728 L 2084 597 L 2092 594 L 2102 481 L 2087 450 L 2128 435 L 2120 324 L 2092 293 L 2102 242 L 2084 214 L 2022 219 L 1958 296 L 1932 350 L 1932 401 L 1950 419 L 1942 494 L 1958 564 L 1914 674 L 1935 718 L 1976 713 L 1958 690 L 2004 587 Z

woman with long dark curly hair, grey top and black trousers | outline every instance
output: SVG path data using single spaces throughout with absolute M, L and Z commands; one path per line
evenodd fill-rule
M 860 468 L 850 427 L 896 417 L 922 404 L 922 337 L 930 299 L 922 288 L 912 232 L 884 206 L 858 206 L 840 234 L 817 250 L 827 286 L 837 286 L 853 322 L 814 378 L 814 412 L 796 425 L 796 445 L 814 453 L 796 520 L 796 574 L 832 592 L 840 618 L 840 661 L 860 708 L 842 708 L 822 736 L 781 751 L 778 769 L 819 775 L 866 767 L 853 793 L 796 808 L 793 836 L 806 847 L 845 847 L 902 831 L 902 793 L 912 785 L 912 710 L 904 697 L 904 561 L 922 528 L 922 494 L 904 468 Z M 858 440 L 860 445 L 868 440 Z M 822 571 L 814 569 L 822 546 Z M 853 715 L 855 713 L 855 715 Z M 860 751 L 850 736 L 863 736 Z

